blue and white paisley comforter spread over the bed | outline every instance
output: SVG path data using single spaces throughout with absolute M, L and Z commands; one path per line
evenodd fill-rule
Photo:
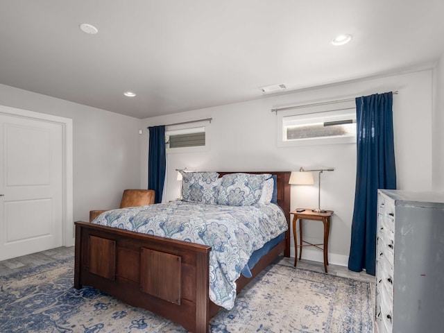
M 251 254 L 288 228 L 284 213 L 272 203 L 160 203 L 110 210 L 93 223 L 212 246 L 210 299 L 225 309 L 234 306 L 235 281 Z

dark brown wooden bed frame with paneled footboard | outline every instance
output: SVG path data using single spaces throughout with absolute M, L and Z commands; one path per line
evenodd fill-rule
M 221 176 L 231 172 L 219 172 Z M 290 223 L 289 171 L 278 179 L 278 205 Z M 94 287 L 134 307 L 169 318 L 190 332 L 209 332 L 220 307 L 209 297 L 210 246 L 119 230 L 76 221 L 74 287 Z M 289 224 L 290 227 L 290 224 Z M 290 228 L 289 228 L 290 230 Z M 237 280 L 237 293 L 282 252 L 290 256 L 290 231 L 285 239 Z

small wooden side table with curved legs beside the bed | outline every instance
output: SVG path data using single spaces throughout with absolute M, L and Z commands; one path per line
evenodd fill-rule
M 298 247 L 299 247 L 299 260 L 300 260 L 300 257 L 302 256 L 302 247 L 303 246 L 314 246 L 314 247 L 318 248 L 319 250 L 323 250 L 323 252 L 324 252 L 324 268 L 325 268 L 325 273 L 327 273 L 328 237 L 330 235 L 330 223 L 331 223 L 333 211 L 327 210 L 324 213 L 316 213 L 316 212 L 311 212 L 311 210 L 306 209 L 304 212 L 296 212 L 296 210 L 293 210 L 290 212 L 290 214 L 293 214 L 293 237 L 294 237 L 294 248 L 296 250 L 296 253 L 294 255 L 294 266 L 296 267 L 296 264 L 298 264 Z M 296 235 L 296 221 L 298 221 L 298 219 L 299 219 L 299 239 L 300 239 L 299 246 L 298 246 L 298 238 Z M 308 241 L 302 240 L 302 220 L 322 221 L 322 223 L 324 225 L 324 242 L 323 242 L 323 244 L 311 244 Z

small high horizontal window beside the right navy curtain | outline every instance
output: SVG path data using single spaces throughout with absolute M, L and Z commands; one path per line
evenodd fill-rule
M 278 116 L 278 126 L 278 146 L 356 142 L 356 108 L 323 105 L 286 110 Z

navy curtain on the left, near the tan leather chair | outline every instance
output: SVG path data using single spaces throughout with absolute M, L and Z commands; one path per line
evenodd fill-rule
M 167 157 L 165 155 L 165 126 L 148 127 L 148 189 L 155 190 L 154 203 L 162 203 Z

